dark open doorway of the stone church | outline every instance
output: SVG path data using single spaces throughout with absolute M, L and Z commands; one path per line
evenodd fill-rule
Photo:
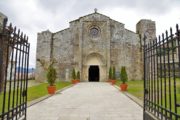
M 89 82 L 99 81 L 99 66 L 92 65 L 89 67 Z

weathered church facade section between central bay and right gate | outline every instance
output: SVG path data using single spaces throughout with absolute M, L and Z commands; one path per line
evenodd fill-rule
M 111 22 L 111 29 L 111 66 L 115 66 L 117 72 L 125 66 L 129 80 L 142 79 L 139 35 L 116 21 Z

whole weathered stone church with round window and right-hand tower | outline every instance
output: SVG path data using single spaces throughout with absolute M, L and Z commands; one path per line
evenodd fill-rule
M 148 40 L 155 37 L 154 21 L 140 20 L 133 32 L 97 10 L 69 22 L 67 29 L 38 33 L 36 80 L 46 80 L 39 61 L 48 65 L 52 59 L 59 80 L 71 80 L 75 68 L 83 82 L 107 81 L 110 66 L 115 66 L 117 73 L 125 66 L 129 80 L 141 80 L 144 34 Z

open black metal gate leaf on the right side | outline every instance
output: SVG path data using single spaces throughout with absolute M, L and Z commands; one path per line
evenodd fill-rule
M 180 30 L 144 39 L 144 120 L 180 120 Z

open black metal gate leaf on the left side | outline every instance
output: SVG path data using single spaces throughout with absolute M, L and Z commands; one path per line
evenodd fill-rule
M 6 24 L 0 29 L 0 120 L 26 119 L 30 44 Z

